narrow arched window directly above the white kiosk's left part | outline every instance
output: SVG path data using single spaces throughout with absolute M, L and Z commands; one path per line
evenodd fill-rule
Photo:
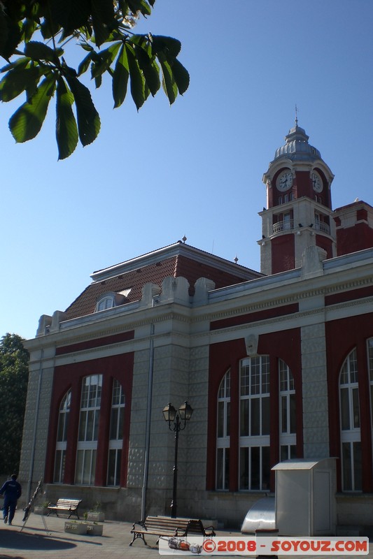
M 280 460 L 295 458 L 295 388 L 293 374 L 279 359 L 280 389 Z

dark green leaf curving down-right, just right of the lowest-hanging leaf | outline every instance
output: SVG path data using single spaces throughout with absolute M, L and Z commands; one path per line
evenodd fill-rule
M 80 142 L 82 145 L 88 145 L 99 135 L 101 126 L 99 113 L 94 107 L 90 90 L 80 83 L 78 78 L 66 76 L 66 80 L 75 99 Z

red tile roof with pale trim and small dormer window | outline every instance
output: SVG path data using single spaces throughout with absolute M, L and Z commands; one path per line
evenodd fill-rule
M 169 253 L 168 258 L 167 253 Z M 117 275 L 111 277 L 111 272 L 115 273 L 115 271 Z M 153 283 L 162 287 L 165 277 L 185 277 L 188 279 L 192 294 L 199 277 L 212 279 L 218 289 L 260 277 L 260 274 L 180 242 L 113 268 L 99 270 L 92 277 L 94 282 L 87 286 L 66 309 L 65 320 L 92 314 L 98 298 L 104 293 L 118 293 L 130 289 L 125 303 L 140 300 L 145 284 Z

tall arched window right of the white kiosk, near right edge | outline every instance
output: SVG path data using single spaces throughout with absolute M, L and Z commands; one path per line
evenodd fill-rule
M 360 409 L 356 349 L 346 357 L 339 375 L 342 444 L 342 490 L 361 491 Z

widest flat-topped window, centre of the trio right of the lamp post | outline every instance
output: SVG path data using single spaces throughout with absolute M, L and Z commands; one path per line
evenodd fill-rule
M 239 488 L 269 488 L 269 356 L 240 363 Z

